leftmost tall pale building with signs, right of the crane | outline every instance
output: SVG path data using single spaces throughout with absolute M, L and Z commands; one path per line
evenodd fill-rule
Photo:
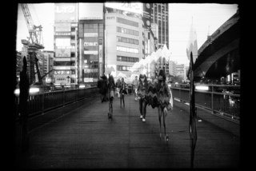
M 78 83 L 78 4 L 54 4 L 54 84 Z

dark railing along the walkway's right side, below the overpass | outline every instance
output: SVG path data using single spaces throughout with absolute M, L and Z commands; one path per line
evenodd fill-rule
M 197 87 L 198 84 L 195 84 Z M 195 105 L 226 120 L 240 123 L 240 85 L 200 85 L 208 90 L 195 89 Z M 190 102 L 190 85 L 171 84 L 174 98 Z

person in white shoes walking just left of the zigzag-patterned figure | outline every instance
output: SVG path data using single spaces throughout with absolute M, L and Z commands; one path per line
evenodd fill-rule
M 139 104 L 139 112 L 141 114 L 140 118 L 143 122 L 146 121 L 146 93 L 147 93 L 147 78 L 145 74 L 139 75 L 139 83 L 138 83 L 138 104 Z

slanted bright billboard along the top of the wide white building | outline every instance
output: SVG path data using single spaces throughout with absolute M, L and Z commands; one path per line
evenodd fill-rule
M 125 10 L 136 14 L 142 14 L 142 3 L 128 3 L 128 2 L 106 2 L 106 7 L 118 9 L 118 10 Z

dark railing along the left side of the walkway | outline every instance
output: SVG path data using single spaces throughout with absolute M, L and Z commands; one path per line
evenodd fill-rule
M 62 86 L 61 90 L 54 90 L 44 92 L 48 87 L 39 86 L 42 89 L 42 92 L 30 94 L 28 98 L 28 114 L 29 117 L 33 117 L 40 113 L 45 113 L 51 109 L 55 109 L 58 107 L 62 107 L 68 105 L 73 102 L 81 101 L 86 97 L 90 97 L 91 95 L 95 95 L 98 93 L 97 87 L 90 88 L 79 88 L 78 86 L 74 86 L 69 89 L 65 89 Z M 16 103 L 16 117 L 18 118 L 18 101 L 19 97 L 15 97 Z

